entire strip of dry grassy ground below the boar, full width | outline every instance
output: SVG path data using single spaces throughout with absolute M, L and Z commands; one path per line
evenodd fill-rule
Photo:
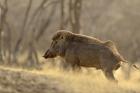
M 121 70 L 115 73 L 118 84 L 110 83 L 101 71 L 83 69 L 67 72 L 51 66 L 43 71 L 0 67 L 0 93 L 140 93 L 140 72 L 133 70 L 124 80 Z

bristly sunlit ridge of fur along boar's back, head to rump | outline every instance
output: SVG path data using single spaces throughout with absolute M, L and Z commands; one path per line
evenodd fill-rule
M 75 34 L 70 31 L 66 30 L 59 30 L 56 32 L 56 34 L 53 36 L 52 40 L 57 40 L 61 37 L 64 37 L 67 41 L 75 41 L 75 42 L 81 42 L 81 43 L 87 43 L 87 44 L 100 44 L 105 45 L 109 49 L 112 50 L 113 54 L 116 55 L 116 58 L 118 61 L 125 61 L 125 59 L 120 55 L 118 52 L 114 42 L 108 40 L 108 41 L 101 41 L 97 38 L 82 35 L 82 34 Z

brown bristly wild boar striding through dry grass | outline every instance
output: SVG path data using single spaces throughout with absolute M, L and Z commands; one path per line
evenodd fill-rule
M 126 61 L 112 41 L 101 41 L 64 30 L 58 31 L 52 39 L 44 55 L 46 59 L 60 56 L 73 69 L 81 66 L 101 69 L 109 80 L 116 81 L 113 71 L 121 66 L 121 61 Z

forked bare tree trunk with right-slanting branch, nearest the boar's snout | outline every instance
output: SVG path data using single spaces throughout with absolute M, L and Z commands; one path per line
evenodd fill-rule
M 45 30 L 48 28 L 48 26 L 51 23 L 51 19 L 53 17 L 53 14 L 56 10 L 56 5 L 54 5 L 52 7 L 52 11 L 49 14 L 49 17 L 45 20 L 45 22 L 41 25 L 41 28 L 38 30 L 37 35 L 35 35 L 36 32 L 36 25 L 32 28 L 32 33 L 31 33 L 31 40 L 29 41 L 29 46 L 28 46 L 28 58 L 27 58 L 27 62 L 26 64 L 28 64 L 29 67 L 35 66 L 37 68 L 39 68 L 39 59 L 38 59 L 38 54 L 37 54 L 37 50 L 36 50 L 36 46 L 35 43 L 37 43 L 37 41 L 40 39 L 40 37 L 43 35 L 43 33 L 45 32 Z M 38 20 L 38 19 L 36 19 Z

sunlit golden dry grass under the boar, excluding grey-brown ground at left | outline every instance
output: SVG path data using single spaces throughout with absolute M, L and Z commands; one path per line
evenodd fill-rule
M 64 86 L 69 87 L 74 93 L 139 93 L 140 74 L 133 70 L 130 80 L 124 79 L 124 73 L 120 70 L 115 72 L 115 77 L 119 83 L 114 84 L 106 80 L 101 71 L 95 69 L 82 72 L 66 72 L 58 68 L 45 68 L 46 74 L 62 79 Z

